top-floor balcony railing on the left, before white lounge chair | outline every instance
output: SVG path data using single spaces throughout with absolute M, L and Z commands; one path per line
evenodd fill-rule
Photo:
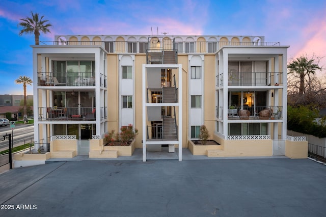
M 95 86 L 95 77 L 89 72 L 76 73 L 76 76 L 54 76 L 51 72 L 38 73 L 38 86 Z M 101 80 L 105 81 L 101 74 Z M 106 85 L 103 81 L 103 85 Z

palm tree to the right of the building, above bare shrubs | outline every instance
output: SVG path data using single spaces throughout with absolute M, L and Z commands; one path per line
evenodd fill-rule
M 313 56 L 310 60 L 308 60 L 307 55 L 296 58 L 291 63 L 287 65 L 289 69 L 289 73 L 297 73 L 300 78 L 300 87 L 299 87 L 299 95 L 305 93 L 305 77 L 308 76 L 308 86 L 310 88 L 311 85 L 311 77 L 310 75 L 315 74 L 316 70 L 321 70 L 318 66 L 320 58 L 315 58 Z M 315 63 L 317 61 L 317 64 Z

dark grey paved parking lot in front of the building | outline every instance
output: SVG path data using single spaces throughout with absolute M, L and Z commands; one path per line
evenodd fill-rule
M 324 216 L 325 180 L 285 157 L 61 161 L 0 174 L 0 216 Z

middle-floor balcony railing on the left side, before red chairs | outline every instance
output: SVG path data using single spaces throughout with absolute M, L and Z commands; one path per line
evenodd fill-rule
M 104 107 L 100 107 L 101 120 L 105 117 Z M 95 121 L 94 107 L 38 107 L 39 121 Z

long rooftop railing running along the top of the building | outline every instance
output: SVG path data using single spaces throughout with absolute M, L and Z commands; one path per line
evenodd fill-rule
M 155 43 L 155 45 L 153 45 Z M 110 53 L 146 53 L 146 49 L 174 49 L 178 53 L 215 53 L 225 46 L 280 46 L 280 42 L 175 42 L 173 39 L 138 42 L 138 41 L 41 41 L 40 45 L 80 45 L 102 46 Z

